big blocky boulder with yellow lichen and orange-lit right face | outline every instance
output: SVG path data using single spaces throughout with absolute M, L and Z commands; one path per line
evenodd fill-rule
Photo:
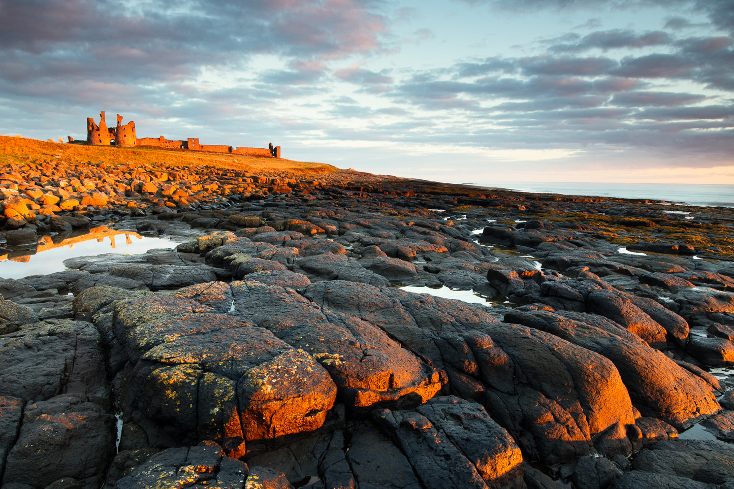
M 126 410 L 138 413 L 151 443 L 275 438 L 321 426 L 336 395 L 326 371 L 268 330 L 216 314 L 206 303 L 222 302 L 198 292 L 190 295 L 203 303 L 149 295 L 115 305 L 112 327 L 134 365 L 128 385 L 140 386 L 126 390 Z

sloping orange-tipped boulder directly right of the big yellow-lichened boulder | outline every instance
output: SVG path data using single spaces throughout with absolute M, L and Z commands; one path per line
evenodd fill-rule
M 324 311 L 292 289 L 233 282 L 231 314 L 271 330 L 317 358 L 350 407 L 417 404 L 441 388 L 439 375 L 379 327 Z

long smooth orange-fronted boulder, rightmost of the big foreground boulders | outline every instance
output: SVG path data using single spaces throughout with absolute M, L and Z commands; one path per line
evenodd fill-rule
M 700 416 L 719 410 L 711 385 L 609 319 L 529 310 L 512 311 L 504 320 L 553 333 L 610 359 L 633 403 L 646 416 L 688 427 Z

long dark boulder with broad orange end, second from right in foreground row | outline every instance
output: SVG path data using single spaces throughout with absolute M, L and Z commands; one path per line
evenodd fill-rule
M 552 465 L 595 444 L 610 454 L 629 450 L 627 390 L 611 361 L 589 349 L 501 325 L 481 306 L 400 289 L 331 281 L 308 286 L 305 297 L 385 330 L 451 389 L 482 400 L 529 457 Z

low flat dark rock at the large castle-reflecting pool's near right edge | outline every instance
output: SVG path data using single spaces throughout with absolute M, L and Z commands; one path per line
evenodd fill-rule
M 113 267 L 109 275 L 142 282 L 150 289 L 178 289 L 195 283 L 217 281 L 211 267 L 175 267 L 172 265 L 123 265 Z

